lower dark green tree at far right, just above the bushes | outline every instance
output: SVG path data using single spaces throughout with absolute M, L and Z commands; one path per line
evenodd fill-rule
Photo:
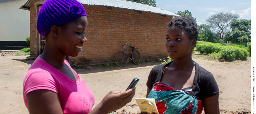
M 251 40 L 247 34 L 248 32 L 234 28 L 232 31 L 227 31 L 225 33 L 225 41 L 231 41 L 235 44 L 243 44 L 244 41 L 250 42 Z

